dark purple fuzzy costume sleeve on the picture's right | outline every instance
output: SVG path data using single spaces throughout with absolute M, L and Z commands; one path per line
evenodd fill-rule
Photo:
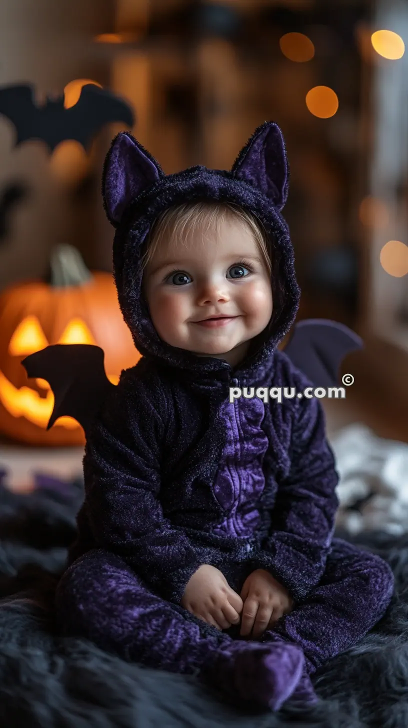
M 290 472 L 278 483 L 270 534 L 256 565 L 270 571 L 295 601 L 307 596 L 321 579 L 339 505 L 338 475 L 321 403 L 303 397 L 297 404 Z

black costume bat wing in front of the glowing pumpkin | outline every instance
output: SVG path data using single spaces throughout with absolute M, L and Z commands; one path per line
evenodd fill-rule
M 114 389 L 103 366 L 103 349 L 91 344 L 55 344 L 22 361 L 28 377 L 45 379 L 55 397 L 47 430 L 68 415 L 85 430 Z

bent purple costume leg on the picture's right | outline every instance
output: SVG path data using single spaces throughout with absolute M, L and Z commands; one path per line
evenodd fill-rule
M 356 644 L 384 616 L 393 594 L 391 567 L 377 555 L 333 539 L 321 582 L 262 641 L 291 641 L 305 653 L 307 673 Z

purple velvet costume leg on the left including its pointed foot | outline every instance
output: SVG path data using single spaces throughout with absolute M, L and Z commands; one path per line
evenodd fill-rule
M 278 710 L 302 674 L 302 649 L 235 641 L 150 591 L 125 561 L 94 549 L 63 574 L 56 592 L 63 633 L 85 636 L 125 660 L 195 673 L 235 704 Z

